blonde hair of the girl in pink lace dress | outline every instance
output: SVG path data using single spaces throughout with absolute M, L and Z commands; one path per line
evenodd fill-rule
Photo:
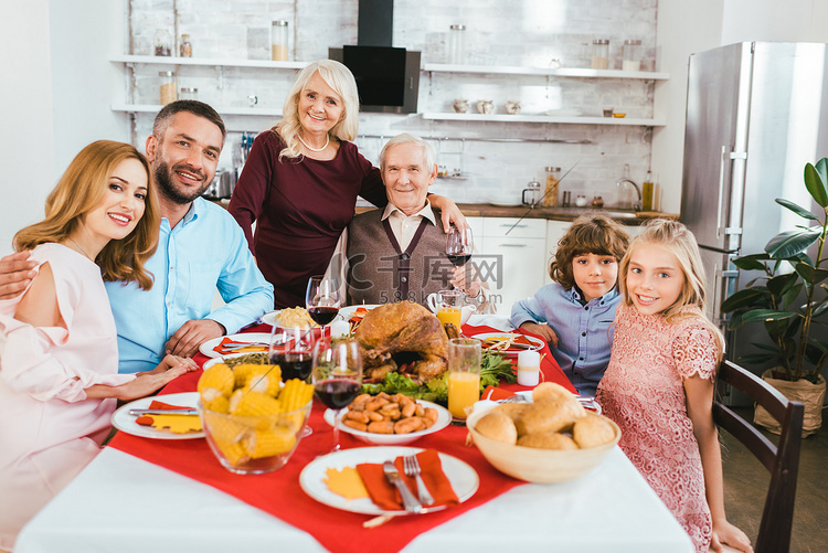
M 693 236 L 693 233 L 687 226 L 678 221 L 665 219 L 652 220 L 644 225 L 643 228 L 641 233 L 633 238 L 629 249 L 627 249 L 627 254 L 618 267 L 618 286 L 620 288 L 622 302 L 625 306 L 633 305 L 633 298 L 629 296 L 629 290 L 627 290 L 627 270 L 629 270 L 630 257 L 636 247 L 641 244 L 649 244 L 664 248 L 678 259 L 679 269 L 684 281 L 676 302 L 665 309 L 661 315 L 670 325 L 677 325 L 691 318 L 703 322 L 713 333 L 716 348 L 719 349 L 716 357 L 721 361 L 724 351 L 724 337 L 721 330 L 704 315 L 704 308 L 707 307 L 707 279 L 696 236 Z M 688 307 L 694 307 L 696 309 L 688 309 Z

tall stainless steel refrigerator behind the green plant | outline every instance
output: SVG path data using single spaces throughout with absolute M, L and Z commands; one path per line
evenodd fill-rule
M 775 198 L 810 205 L 805 163 L 828 156 L 828 44 L 731 44 L 692 54 L 688 75 L 681 221 L 701 247 L 708 315 L 724 326 L 722 300 L 757 276 L 730 258 L 800 224 Z M 757 332 L 726 333 L 728 357 Z

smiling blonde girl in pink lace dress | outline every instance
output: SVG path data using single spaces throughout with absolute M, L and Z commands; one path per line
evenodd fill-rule
M 712 412 L 722 337 L 704 316 L 696 238 L 675 221 L 648 224 L 622 259 L 618 280 L 623 299 L 597 401 L 698 553 L 722 551 L 721 543 L 753 551 L 724 514 Z

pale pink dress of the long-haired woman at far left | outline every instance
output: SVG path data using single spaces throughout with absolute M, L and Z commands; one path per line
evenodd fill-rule
M 100 267 L 60 244 L 32 252 L 49 263 L 65 327 L 14 319 L 22 295 L 0 301 L 0 549 L 100 450 L 116 401 L 87 400 L 116 386 L 118 343 Z

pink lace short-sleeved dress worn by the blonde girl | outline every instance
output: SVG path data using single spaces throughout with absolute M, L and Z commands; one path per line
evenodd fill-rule
M 714 379 L 715 338 L 694 317 L 670 325 L 635 306 L 618 306 L 615 325 L 596 400 L 620 427 L 620 448 L 705 553 L 713 528 L 682 379 Z

